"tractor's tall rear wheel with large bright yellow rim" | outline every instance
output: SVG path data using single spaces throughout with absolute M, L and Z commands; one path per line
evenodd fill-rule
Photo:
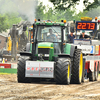
M 83 75 L 83 55 L 80 49 L 74 52 L 71 83 L 80 84 Z

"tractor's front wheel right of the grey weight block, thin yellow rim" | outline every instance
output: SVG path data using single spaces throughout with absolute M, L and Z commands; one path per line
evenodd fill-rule
M 55 81 L 58 84 L 70 84 L 71 60 L 70 58 L 59 58 L 55 68 Z

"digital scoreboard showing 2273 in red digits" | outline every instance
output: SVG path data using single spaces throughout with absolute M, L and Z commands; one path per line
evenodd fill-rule
M 77 21 L 76 30 L 96 30 L 97 23 L 90 21 Z

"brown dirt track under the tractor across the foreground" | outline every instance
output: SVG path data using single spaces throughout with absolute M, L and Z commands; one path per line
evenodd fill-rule
M 0 100 L 100 100 L 100 76 L 95 82 L 57 85 L 17 83 L 17 75 L 0 75 Z

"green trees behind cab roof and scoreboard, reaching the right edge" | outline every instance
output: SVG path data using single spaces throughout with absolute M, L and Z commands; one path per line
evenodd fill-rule
M 46 7 L 45 5 L 40 3 L 37 6 L 36 18 L 41 20 L 51 20 L 59 22 L 64 19 L 66 19 L 67 21 L 80 21 L 81 17 L 92 17 L 94 19 L 96 16 L 100 15 L 100 7 L 95 9 L 91 8 L 90 11 L 85 10 L 83 12 L 79 12 L 78 14 L 75 10 L 76 9 L 71 10 L 70 8 L 67 8 L 65 10 L 54 9 L 50 8 L 49 6 Z

